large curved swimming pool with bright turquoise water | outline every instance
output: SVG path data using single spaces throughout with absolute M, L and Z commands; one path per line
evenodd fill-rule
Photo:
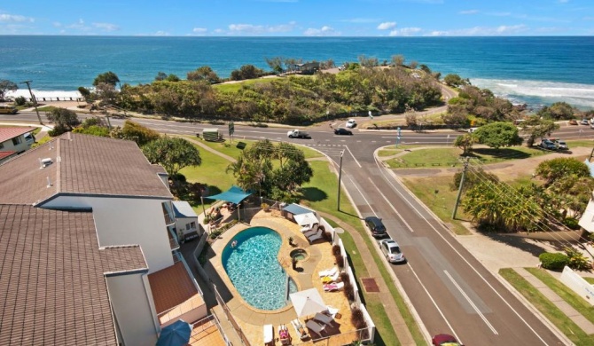
M 239 295 L 256 309 L 272 311 L 287 305 L 287 275 L 277 260 L 281 242 L 274 230 L 251 227 L 239 232 L 223 249 L 223 268 Z M 291 278 L 288 291 L 297 292 Z

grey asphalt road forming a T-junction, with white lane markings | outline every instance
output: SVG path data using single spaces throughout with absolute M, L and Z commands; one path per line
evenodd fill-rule
M 35 113 L 2 116 L 36 122 Z M 227 137 L 227 126 L 135 119 L 169 134 L 195 135 L 218 127 Z M 364 121 L 358 119 L 359 122 Z M 112 125 L 123 120 L 112 119 Z M 344 122 L 333 124 L 343 126 Z M 312 139 L 289 139 L 288 128 L 254 128 L 235 125 L 235 140 L 283 140 L 308 145 L 327 154 L 337 164 L 344 151 L 342 185 L 361 216 L 379 216 L 389 235 L 397 240 L 408 263 L 390 264 L 429 334 L 454 334 L 467 345 L 558 345 L 559 338 L 529 311 L 515 295 L 458 244 L 451 232 L 434 219 L 395 178 L 373 152 L 394 145 L 396 131 L 359 131 L 353 136 L 335 136 L 328 124 L 309 130 Z M 402 144 L 451 145 L 453 131 L 401 133 Z M 592 139 L 594 130 L 567 126 L 554 133 L 564 139 Z

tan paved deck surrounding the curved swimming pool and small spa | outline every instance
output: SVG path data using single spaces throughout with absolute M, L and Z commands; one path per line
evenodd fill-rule
M 229 242 L 238 232 L 246 230 L 246 228 L 263 226 L 269 227 L 281 235 L 282 242 L 278 251 L 278 262 L 281 263 L 285 271 L 293 278 L 297 284 L 298 290 L 316 287 L 326 305 L 338 308 L 340 310 L 340 319 L 335 319 L 332 326 L 326 328 L 328 336 L 332 334 L 345 334 L 355 331 L 355 327 L 350 323 L 350 308 L 348 306 L 348 299 L 340 292 L 324 292 L 323 283 L 318 277 L 317 272 L 323 271 L 334 266 L 334 256 L 332 256 L 332 244 L 327 240 L 317 240 L 313 244 L 309 244 L 307 238 L 301 234 L 301 226 L 285 219 L 282 216 L 276 216 L 271 212 L 261 211 L 256 214 L 250 224 L 237 224 L 229 231 L 224 232 L 222 238 L 216 240 L 212 245 L 212 250 L 216 254 L 209 259 L 210 264 L 218 273 L 221 281 L 224 284 L 224 289 L 228 291 L 229 300 L 226 300 L 227 306 L 231 310 L 234 318 L 237 319 L 238 325 L 246 334 L 247 339 L 253 345 L 263 344 L 262 326 L 272 325 L 275 331 L 275 344 L 280 344 L 277 341 L 278 330 L 277 326 L 285 325 L 288 327 L 289 334 L 293 339 L 293 344 L 313 344 L 311 338 L 301 341 L 291 321 L 297 318 L 296 312 L 293 310 L 293 304 L 289 303 L 285 308 L 277 311 L 262 311 L 255 309 L 241 298 L 235 287 L 231 284 L 231 279 L 227 276 L 223 268 L 222 256 L 223 248 L 229 246 Z M 296 246 L 289 245 L 289 237 L 293 237 L 293 243 Z M 308 256 L 303 261 L 299 261 L 296 270 L 293 270 L 290 253 L 295 248 L 303 248 L 307 251 Z M 262 283 L 265 285 L 265 283 Z M 301 323 L 305 325 L 305 320 L 301 319 Z M 320 338 L 316 334 L 311 334 L 315 339 Z M 348 342 L 352 341 L 353 337 L 348 337 Z M 345 342 L 345 343 L 348 343 Z M 340 344 L 338 342 L 337 344 Z

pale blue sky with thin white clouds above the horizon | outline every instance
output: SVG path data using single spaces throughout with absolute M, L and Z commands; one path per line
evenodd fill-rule
M 0 35 L 594 35 L 594 0 L 13 0 Z

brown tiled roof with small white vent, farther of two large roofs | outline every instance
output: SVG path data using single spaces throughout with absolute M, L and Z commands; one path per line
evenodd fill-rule
M 40 169 L 44 158 L 53 163 Z M 74 133 L 4 162 L 0 177 L 4 204 L 34 204 L 55 193 L 172 198 L 135 142 Z

